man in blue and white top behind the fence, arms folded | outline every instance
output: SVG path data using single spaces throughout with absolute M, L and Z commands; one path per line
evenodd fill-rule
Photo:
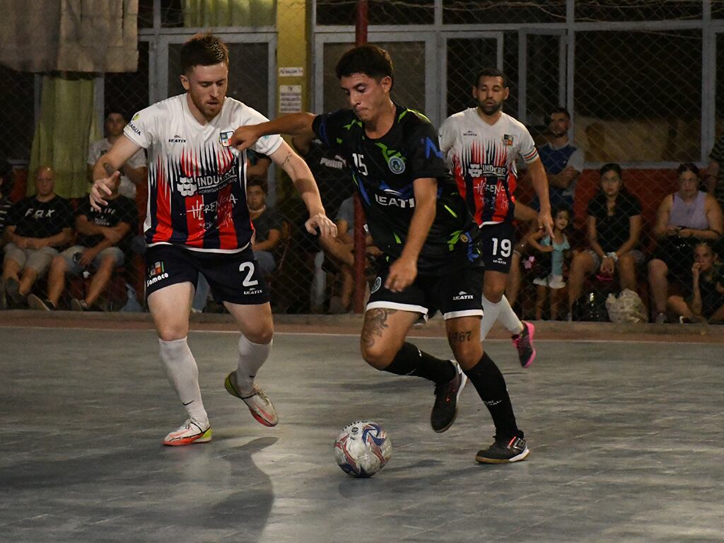
M 538 154 L 548 176 L 551 207 L 573 209 L 578 176 L 584 170 L 584 153 L 568 139 L 571 114 L 565 107 L 553 109 L 548 116 L 550 140 L 538 149 Z M 539 209 L 538 198 L 531 206 Z

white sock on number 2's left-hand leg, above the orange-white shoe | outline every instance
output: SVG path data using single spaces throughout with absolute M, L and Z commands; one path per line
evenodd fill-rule
M 201 401 L 198 366 L 186 340 L 185 337 L 182 340 L 159 340 L 161 366 L 164 366 L 169 383 L 186 408 L 188 416 L 195 421 L 206 423 L 209 421 L 209 416 Z

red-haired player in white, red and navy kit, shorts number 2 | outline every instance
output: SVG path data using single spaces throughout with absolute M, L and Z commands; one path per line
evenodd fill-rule
M 93 167 L 91 205 L 105 205 L 117 169 L 140 148 L 149 151 L 148 214 L 144 231 L 146 296 L 159 334 L 161 363 L 188 418 L 164 445 L 211 440 L 198 386 L 198 368 L 186 336 L 198 275 L 234 317 L 242 333 L 236 371 L 224 382 L 258 422 L 277 424 L 274 405 L 254 382 L 271 348 L 274 325 L 269 293 L 251 250 L 253 227 L 246 203 L 246 153 L 229 145 L 243 125 L 266 117 L 226 97 L 229 51 L 213 35 L 195 35 L 181 49 L 185 94 L 139 111 L 114 146 Z M 306 203 L 306 228 L 334 236 L 309 168 L 281 138 L 263 138 L 254 151 L 289 174 Z

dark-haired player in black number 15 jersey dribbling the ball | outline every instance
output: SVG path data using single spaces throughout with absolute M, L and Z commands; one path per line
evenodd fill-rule
M 476 460 L 524 460 L 529 449 L 515 423 L 505 379 L 479 342 L 484 269 L 478 229 L 447 172 L 437 132 L 423 114 L 390 98 L 392 61 L 384 49 L 355 47 L 342 56 L 336 71 L 351 109 L 297 113 L 240 127 L 231 144 L 244 149 L 264 135 L 314 132 L 345 157 L 370 234 L 383 253 L 364 316 L 363 358 L 376 369 L 435 383 L 435 432 L 445 432 L 455 421 L 458 397 L 469 379 L 496 430 L 495 442 Z M 412 325 L 435 311 L 445 318 L 457 362 L 405 342 Z

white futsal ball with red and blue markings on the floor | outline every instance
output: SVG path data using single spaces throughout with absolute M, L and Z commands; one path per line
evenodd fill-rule
M 392 442 L 376 422 L 355 421 L 334 442 L 334 456 L 342 471 L 353 477 L 371 477 L 390 460 Z

